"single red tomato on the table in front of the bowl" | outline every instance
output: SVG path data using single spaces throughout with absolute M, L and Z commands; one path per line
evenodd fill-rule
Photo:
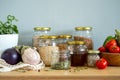
M 96 61 L 96 67 L 98 69 L 105 69 L 107 67 L 108 63 L 104 58 L 101 58 Z

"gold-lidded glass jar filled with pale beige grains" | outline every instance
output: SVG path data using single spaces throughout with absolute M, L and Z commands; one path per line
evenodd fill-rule
M 41 59 L 46 66 L 51 65 L 51 56 L 53 51 L 59 51 L 57 47 L 57 38 L 58 36 L 49 35 L 49 36 L 40 36 L 38 52 L 40 53 Z

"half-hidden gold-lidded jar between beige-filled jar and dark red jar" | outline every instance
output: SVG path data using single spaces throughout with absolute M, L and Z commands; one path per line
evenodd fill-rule
M 72 35 L 59 35 L 58 47 L 59 50 L 66 50 L 68 48 L 67 42 L 71 41 Z

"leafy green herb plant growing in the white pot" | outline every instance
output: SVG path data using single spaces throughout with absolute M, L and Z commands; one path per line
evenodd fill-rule
M 8 15 L 7 21 L 2 22 L 0 21 L 0 35 L 2 34 L 18 34 L 18 28 L 15 24 L 13 24 L 13 21 L 18 21 L 15 16 Z

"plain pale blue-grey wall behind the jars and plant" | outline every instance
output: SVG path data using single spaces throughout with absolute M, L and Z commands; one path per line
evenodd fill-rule
M 33 28 L 50 26 L 53 34 L 93 27 L 94 48 L 120 29 L 120 0 L 0 0 L 0 20 L 14 15 L 19 22 L 19 45 L 32 45 Z

